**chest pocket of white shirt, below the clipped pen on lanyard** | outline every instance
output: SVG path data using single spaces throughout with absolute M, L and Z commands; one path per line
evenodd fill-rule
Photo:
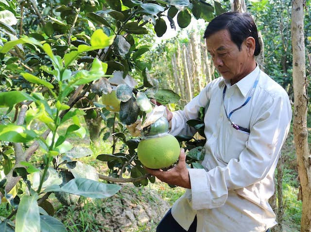
M 225 130 L 225 141 L 222 141 L 222 158 L 225 163 L 228 163 L 231 159 L 239 159 L 241 152 L 246 147 L 249 134 L 235 129 L 228 120 L 223 129 Z

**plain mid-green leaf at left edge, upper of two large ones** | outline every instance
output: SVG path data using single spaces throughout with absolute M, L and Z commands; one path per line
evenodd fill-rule
M 33 97 L 28 95 L 27 93 L 21 91 L 10 91 L 10 92 L 1 92 L 0 93 L 0 108 L 4 107 L 13 107 L 15 104 L 25 101 L 35 101 Z

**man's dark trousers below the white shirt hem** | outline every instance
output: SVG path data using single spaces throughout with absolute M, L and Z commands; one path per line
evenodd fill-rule
M 169 212 L 167 212 L 167 214 L 162 218 L 159 225 L 156 227 L 156 232 L 196 232 L 196 223 L 197 220 L 195 216 L 189 230 L 186 231 L 177 223 L 177 221 L 175 221 L 170 209 Z M 266 232 L 270 232 L 270 229 L 268 229 Z

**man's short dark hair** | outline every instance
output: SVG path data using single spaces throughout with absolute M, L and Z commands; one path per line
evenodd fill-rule
M 208 38 L 215 32 L 228 30 L 232 42 L 241 50 L 242 42 L 249 36 L 255 39 L 254 55 L 260 53 L 260 44 L 256 24 L 252 16 L 248 13 L 226 12 L 218 15 L 207 25 L 204 38 Z

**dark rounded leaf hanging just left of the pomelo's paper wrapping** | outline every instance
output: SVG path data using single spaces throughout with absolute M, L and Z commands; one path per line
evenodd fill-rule
M 139 107 L 134 97 L 127 102 L 121 102 L 119 117 L 123 124 L 130 125 L 136 122 L 139 114 Z

